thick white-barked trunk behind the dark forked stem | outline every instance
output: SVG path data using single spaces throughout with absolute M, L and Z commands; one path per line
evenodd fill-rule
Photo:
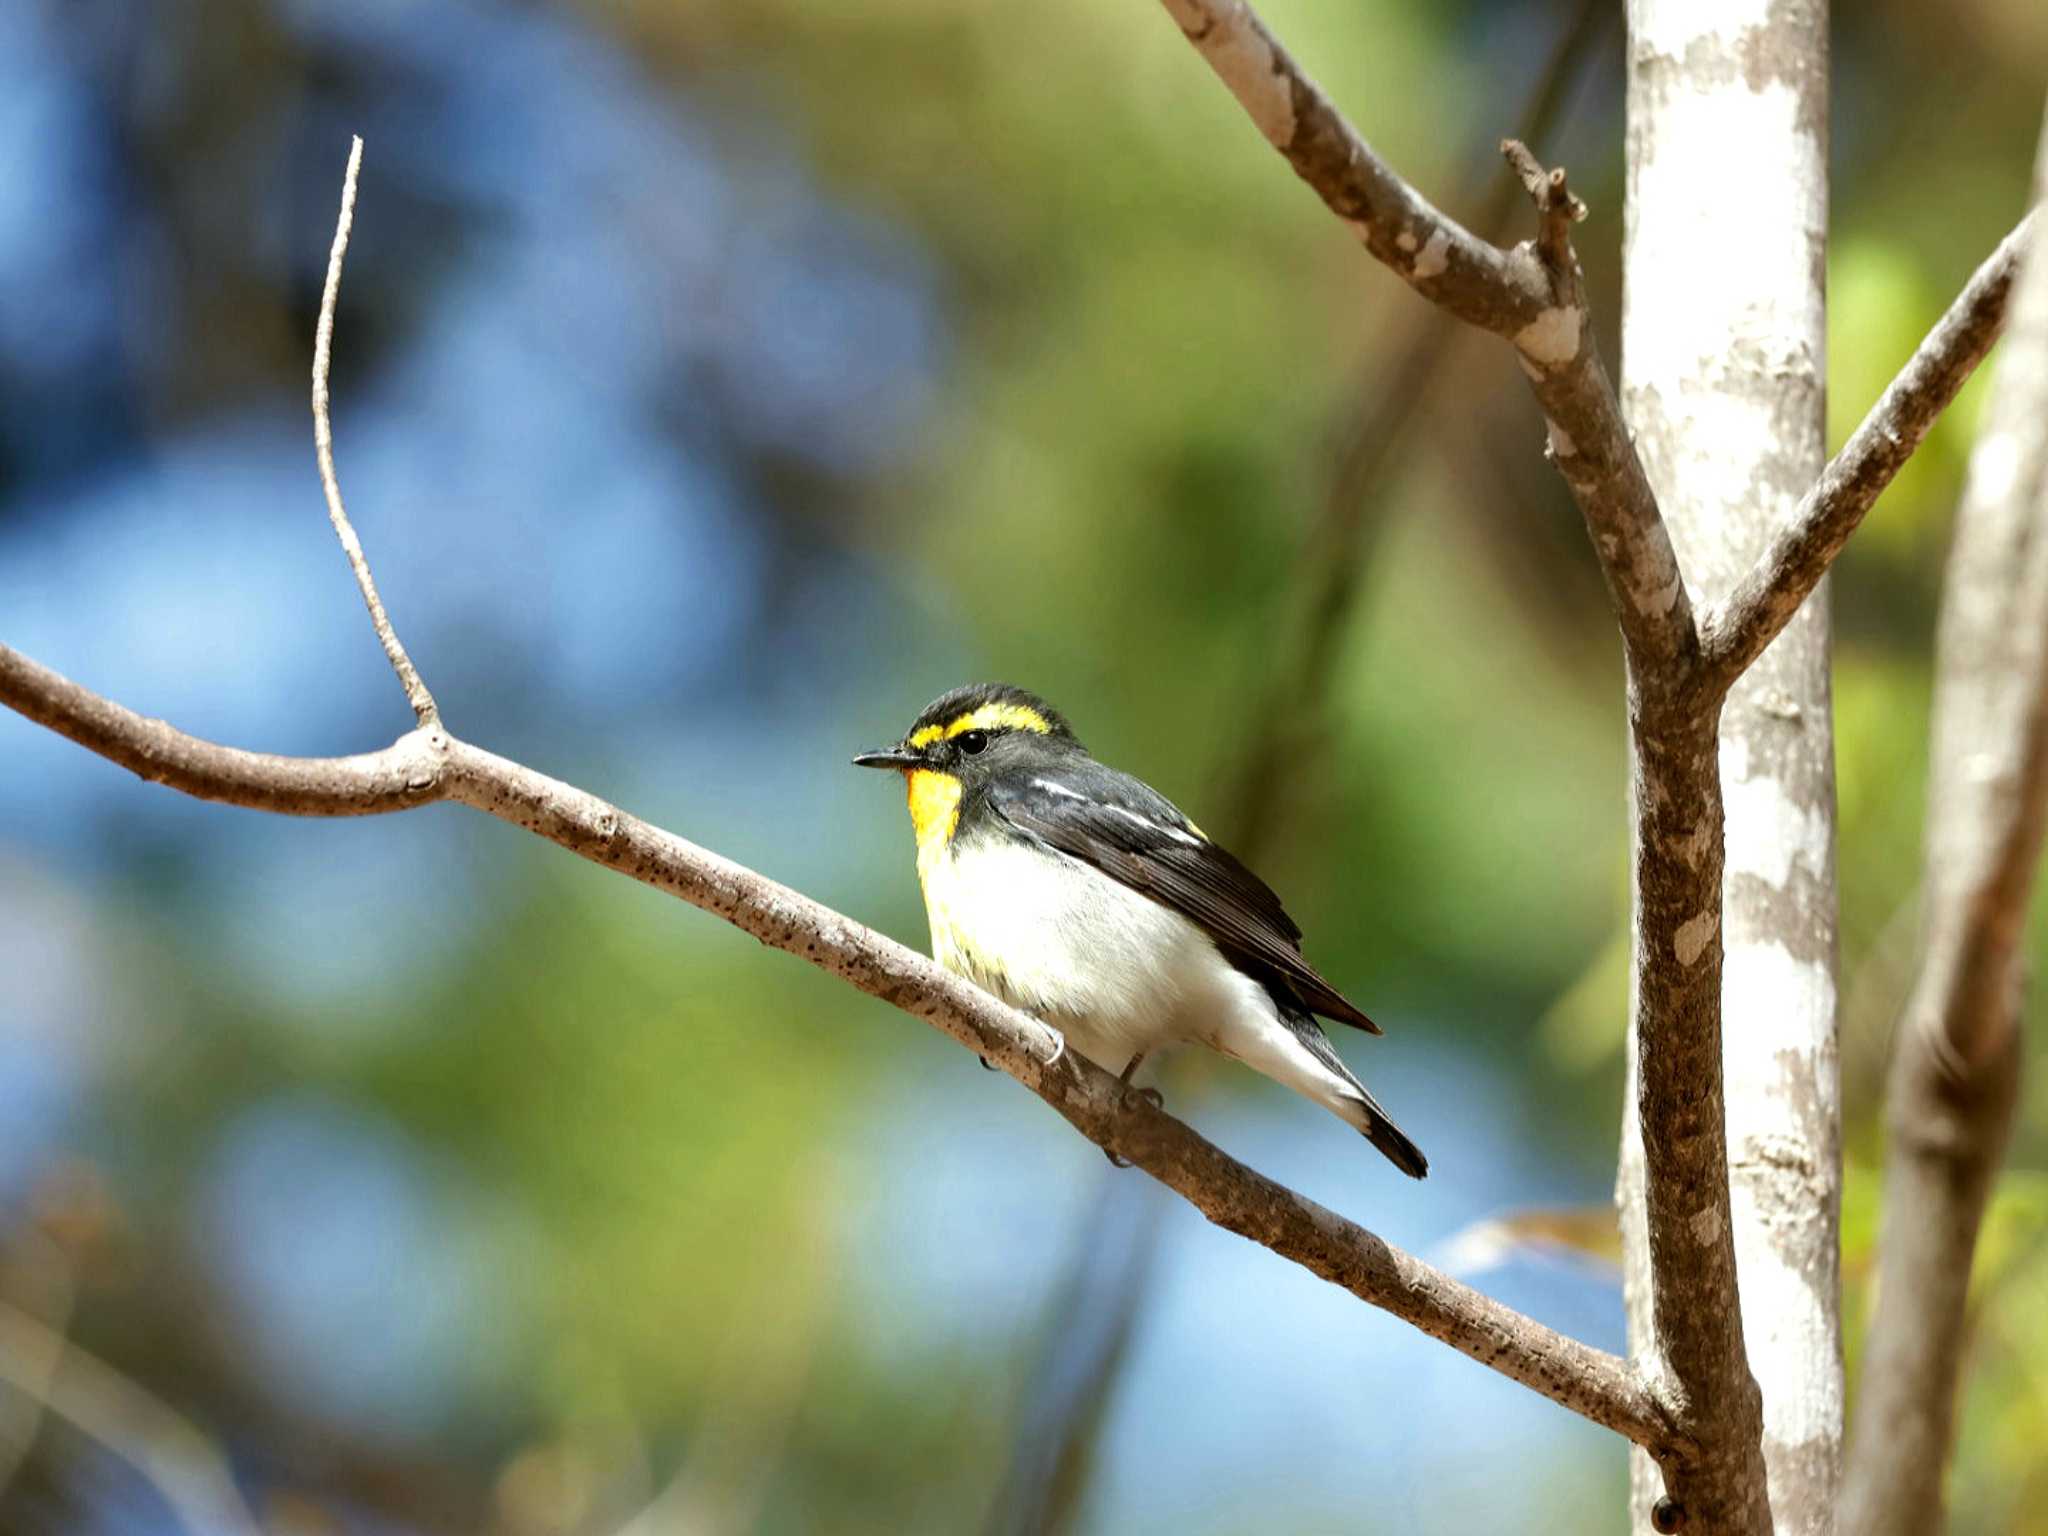
M 1694 602 L 1726 600 L 1825 463 L 1827 12 L 1632 0 L 1622 406 Z M 1835 815 L 1827 590 L 1722 711 L 1731 1221 L 1780 1532 L 1841 1466 Z M 1640 1200 L 1624 1137 L 1622 1198 Z M 1634 1352 L 1649 1249 L 1624 1210 Z M 1647 1462 L 1636 1513 L 1659 1487 Z

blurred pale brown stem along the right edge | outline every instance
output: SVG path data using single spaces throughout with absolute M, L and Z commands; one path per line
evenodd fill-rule
M 2048 123 L 2034 188 L 2048 197 Z M 1925 934 L 1892 1057 L 1878 1311 L 1841 1513 L 1841 1530 L 1868 1536 L 1942 1530 L 1970 1255 L 2019 1090 L 2021 940 L 2048 823 L 2044 520 L 2048 260 L 2036 238 L 1942 598 Z

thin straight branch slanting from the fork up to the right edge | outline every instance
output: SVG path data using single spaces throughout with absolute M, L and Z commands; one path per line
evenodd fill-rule
M 1729 602 L 1706 616 L 1702 664 L 1720 686 L 1735 682 L 1778 639 L 1892 475 L 1999 340 L 2013 274 L 2040 225 L 2038 211 L 2023 217 L 1970 274 L 1948 313 L 1821 471 L 1763 559 Z

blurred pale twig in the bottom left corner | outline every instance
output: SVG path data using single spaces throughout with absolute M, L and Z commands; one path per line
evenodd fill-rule
M 47 1360 L 45 1372 L 33 1362 Z M 154 1393 L 18 1307 L 0 1303 L 0 1380 L 43 1399 L 147 1477 L 193 1536 L 260 1536 L 213 1444 Z

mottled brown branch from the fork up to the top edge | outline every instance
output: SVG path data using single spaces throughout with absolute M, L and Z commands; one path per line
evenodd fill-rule
M 1700 643 L 1692 600 L 1593 344 L 1577 260 L 1556 238 L 1552 195 L 1540 197 L 1548 254 L 1538 242 L 1489 246 L 1386 166 L 1243 0 L 1163 4 L 1266 141 L 1378 262 L 1458 319 L 1513 342 L 1636 672 L 1657 686 L 1683 686 Z

